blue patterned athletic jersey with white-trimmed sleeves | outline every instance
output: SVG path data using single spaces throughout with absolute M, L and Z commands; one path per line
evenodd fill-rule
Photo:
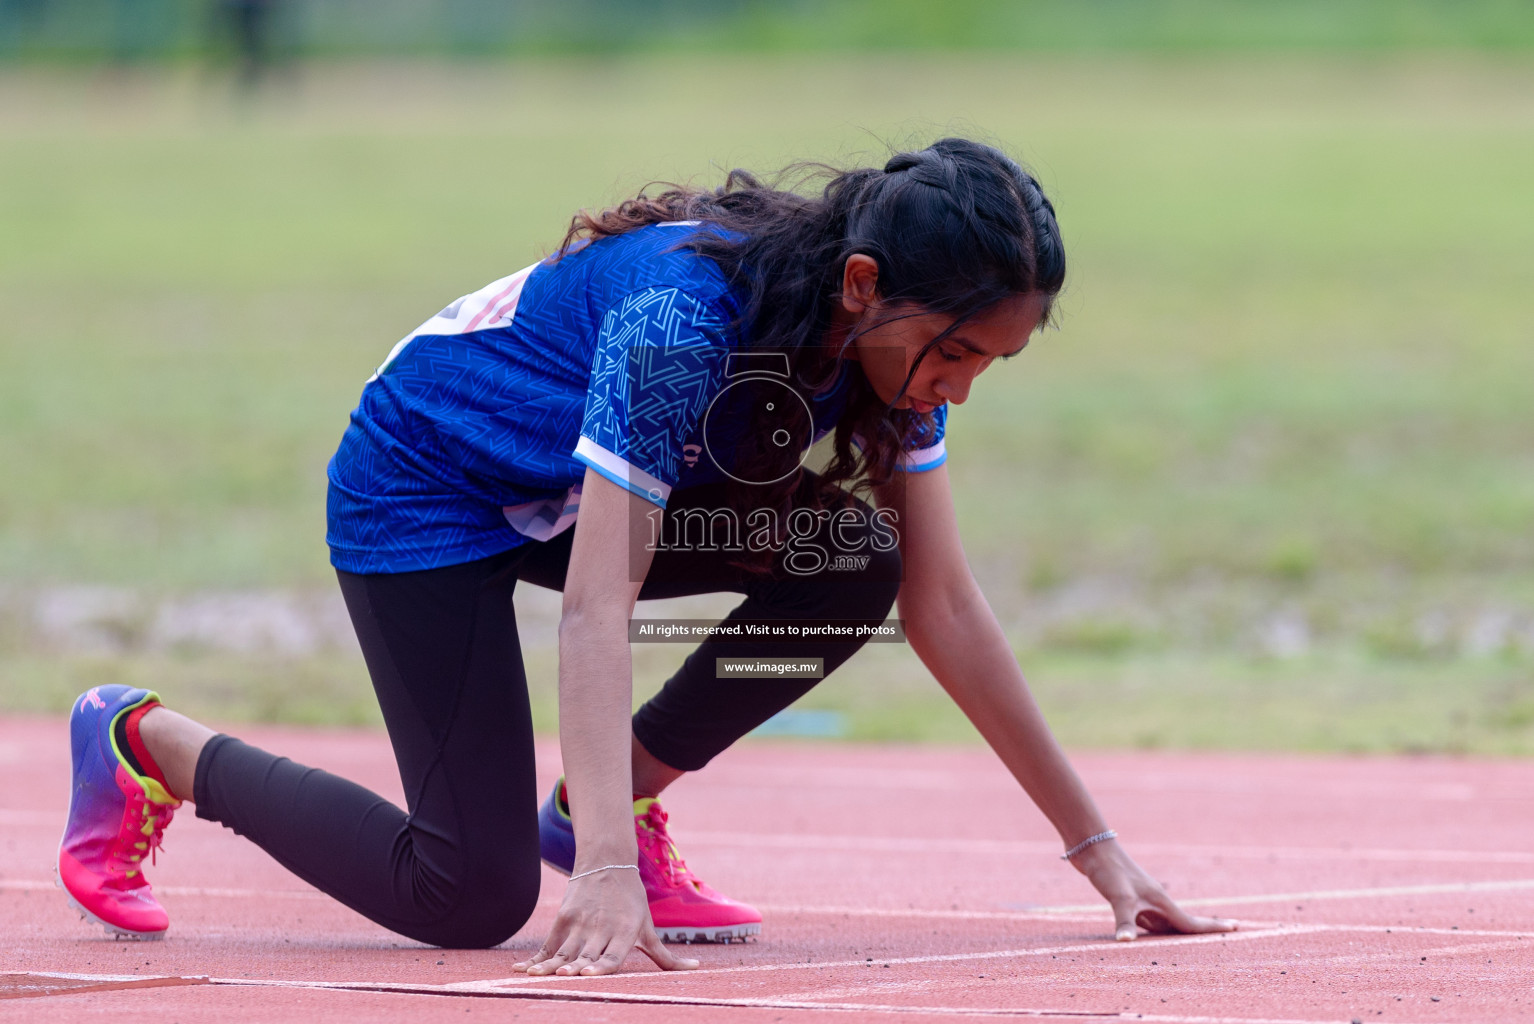
M 673 487 L 721 477 L 709 443 L 718 454 L 739 418 L 721 399 L 772 366 L 750 366 L 744 296 L 712 259 L 678 248 L 700 230 L 657 224 L 592 242 L 463 296 L 400 340 L 330 461 L 331 563 L 411 572 L 548 540 L 574 524 L 588 468 L 661 507 Z M 805 405 L 816 438 L 845 408 L 850 373 L 844 363 Z M 943 461 L 945 414 L 905 469 Z

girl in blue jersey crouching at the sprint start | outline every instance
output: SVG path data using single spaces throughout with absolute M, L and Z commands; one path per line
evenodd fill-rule
M 815 198 L 736 172 L 578 215 L 554 258 L 394 348 L 330 464 L 333 563 L 408 811 L 153 693 L 98 687 L 71 719 L 60 885 L 109 930 L 161 935 L 143 858 L 193 800 L 423 943 L 502 943 L 532 912 L 542 855 L 571 881 L 518 969 L 609 973 L 635 946 L 696 966 L 661 940 L 742 938 L 761 915 L 687 871 L 655 797 L 813 685 L 729 678 L 716 659 L 830 673 L 899 601 L 911 647 L 1058 829 L 1118 938 L 1233 927 L 1184 914 L 1115 842 L 959 543 L 948 405 L 1023 350 L 1063 279 L 1039 184 L 963 139 Z M 522 579 L 565 593 L 568 777 L 542 811 Z M 635 601 L 716 590 L 746 599 L 630 720 Z

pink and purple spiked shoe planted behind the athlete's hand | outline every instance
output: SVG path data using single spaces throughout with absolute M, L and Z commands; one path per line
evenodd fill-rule
M 753 906 L 710 889 L 676 852 L 666 831 L 666 811 L 650 797 L 634 802 L 634 835 L 640 843 L 640 878 L 650 900 L 650 921 L 666 943 L 746 941 L 762 930 Z M 543 863 L 560 874 L 575 865 L 575 828 L 565 797 L 565 780 L 538 808 L 538 849 Z

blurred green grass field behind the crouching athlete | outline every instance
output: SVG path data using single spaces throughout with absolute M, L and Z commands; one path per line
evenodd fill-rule
M 647 179 L 957 132 L 1034 166 L 1072 261 L 1062 330 L 950 425 L 1062 736 L 1528 753 L 1529 95 L 1526 57 L 321 66 L 253 101 L 0 74 L 0 707 L 112 678 L 373 720 L 344 650 L 69 650 L 38 595 L 328 592 L 324 464 L 416 323 Z M 807 705 L 971 736 L 904 648 Z

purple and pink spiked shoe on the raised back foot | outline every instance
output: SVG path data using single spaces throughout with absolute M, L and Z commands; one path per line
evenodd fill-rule
M 58 845 L 58 888 L 86 918 L 124 938 L 161 938 L 170 918 L 144 878 L 181 800 L 133 770 L 118 750 L 117 720 L 160 697 L 130 687 L 95 687 L 69 716 L 74 789 Z

